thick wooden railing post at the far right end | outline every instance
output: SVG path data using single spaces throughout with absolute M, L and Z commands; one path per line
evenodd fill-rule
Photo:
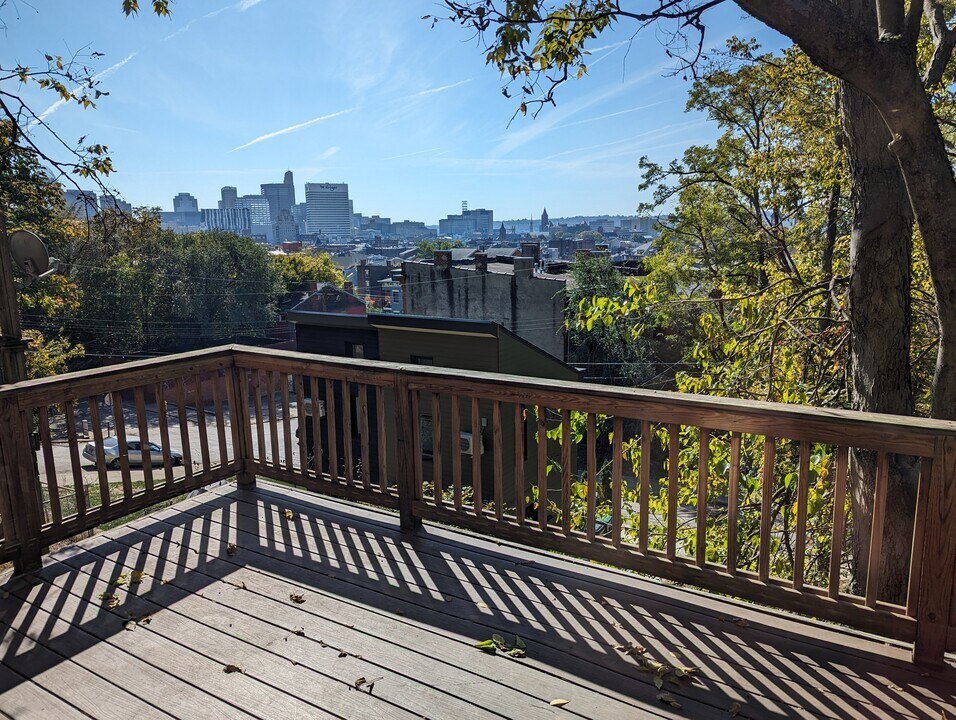
M 924 480 L 928 481 L 925 485 Z M 938 666 L 946 651 L 956 572 L 956 438 L 936 440 L 932 472 L 928 478 L 920 478 L 920 492 L 929 494 L 922 504 L 926 526 L 913 662 Z

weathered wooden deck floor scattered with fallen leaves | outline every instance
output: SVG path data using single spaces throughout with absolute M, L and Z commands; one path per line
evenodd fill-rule
M 12 718 L 956 717 L 956 668 L 922 671 L 902 646 L 435 525 L 403 533 L 261 480 L 54 552 L 0 597 Z M 527 656 L 474 648 L 493 633 Z M 696 668 L 661 678 L 679 709 L 654 662 Z

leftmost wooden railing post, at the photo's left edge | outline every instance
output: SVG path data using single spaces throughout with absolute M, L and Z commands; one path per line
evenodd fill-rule
M 14 400 L 0 400 L 0 437 L 6 440 L 0 448 L 0 481 L 10 498 L 12 534 L 20 543 L 20 554 L 14 560 L 18 573 L 41 565 L 42 512 L 27 417 Z

